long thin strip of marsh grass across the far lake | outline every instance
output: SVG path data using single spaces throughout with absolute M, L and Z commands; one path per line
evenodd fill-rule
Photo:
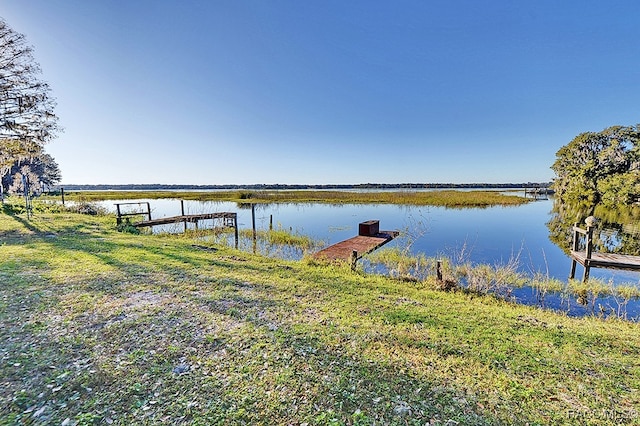
M 233 201 L 244 203 L 383 203 L 432 205 L 445 207 L 486 207 L 519 205 L 532 201 L 523 192 L 505 195 L 498 191 L 82 191 L 65 193 L 71 201 L 131 200 L 176 198 L 200 201 Z M 57 197 L 60 198 L 60 197 Z

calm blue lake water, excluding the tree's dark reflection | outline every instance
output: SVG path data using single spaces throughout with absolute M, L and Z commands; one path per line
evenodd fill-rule
M 153 218 L 181 214 L 179 200 L 135 201 L 148 201 Z M 115 211 L 116 202 L 119 201 L 105 201 L 102 205 Z M 516 207 L 467 209 L 385 204 L 265 204 L 256 206 L 256 227 L 268 229 L 272 220 L 276 229 L 290 229 L 329 245 L 357 235 L 360 222 L 374 219 L 380 221 L 381 230 L 398 230 L 404 235 L 385 247 L 404 248 L 412 242 L 411 252 L 429 257 L 458 258 L 464 252 L 473 264 L 505 265 L 517 257 L 522 272 L 542 272 L 566 281 L 571 260 L 549 239 L 546 226 L 552 206 L 552 200 Z M 184 208 L 186 214 L 236 212 L 240 229 L 252 227 L 251 209 L 236 203 L 184 201 Z M 177 232 L 182 226 L 157 227 L 154 232 Z M 576 275 L 582 276 L 580 265 Z M 640 273 L 636 272 L 592 269 L 591 277 L 616 285 L 640 283 Z M 536 300 L 531 289 L 517 289 L 514 295 L 524 303 Z M 549 306 L 562 303 L 566 301 L 559 296 L 547 297 Z M 581 310 L 584 308 L 580 306 L 570 308 L 571 314 L 580 314 Z M 634 317 L 640 315 L 640 310 L 630 304 L 628 314 Z

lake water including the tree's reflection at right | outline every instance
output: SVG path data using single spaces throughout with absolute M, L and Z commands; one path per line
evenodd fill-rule
M 179 200 L 135 201 L 149 201 L 154 218 L 181 213 Z M 116 202 L 110 201 L 104 206 L 113 210 Z M 236 212 L 241 234 L 252 228 L 251 204 L 248 203 L 185 201 L 184 207 L 186 214 Z M 583 315 L 619 310 L 619 302 L 611 297 L 599 297 L 583 306 L 568 290 L 543 288 L 539 283 L 543 279 L 555 279 L 566 284 L 571 266 L 568 256 L 571 228 L 575 222 L 584 222 L 584 218 L 592 214 L 601 219 L 597 233 L 599 249 L 640 254 L 637 211 L 618 212 L 614 216 L 612 212 L 596 207 L 561 205 L 553 198 L 520 206 L 483 209 L 393 204 L 258 204 L 255 223 L 258 230 L 269 227 L 290 230 L 330 245 L 356 235 L 358 223 L 379 220 L 381 229 L 401 231 L 401 237 L 385 246 L 388 249 L 472 265 L 486 264 L 494 269 L 513 266 L 515 271 L 527 274 L 531 279 L 522 287 L 508 289 L 506 297 L 560 309 L 570 315 Z M 175 231 L 162 227 L 154 230 Z M 251 247 L 243 245 L 242 239 L 240 246 L 246 250 Z M 303 250 L 279 250 L 266 243 L 261 247 L 265 248 L 265 254 L 272 256 L 297 259 L 305 254 Z M 372 268 L 379 271 L 376 266 Z M 640 274 L 592 269 L 591 279 L 611 286 L 637 286 Z M 625 309 L 630 317 L 640 315 L 637 303 L 629 304 Z

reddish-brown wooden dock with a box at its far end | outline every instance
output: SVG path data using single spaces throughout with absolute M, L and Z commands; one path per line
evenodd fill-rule
M 353 265 L 362 256 L 382 247 L 398 234 L 398 231 L 380 231 L 378 221 L 370 220 L 360 224 L 357 236 L 322 249 L 313 257 L 331 261 L 350 261 Z

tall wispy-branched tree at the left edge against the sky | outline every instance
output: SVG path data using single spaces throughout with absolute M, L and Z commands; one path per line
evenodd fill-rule
M 40 73 L 26 37 L 0 18 L 0 182 L 42 156 L 60 131 L 55 100 Z

